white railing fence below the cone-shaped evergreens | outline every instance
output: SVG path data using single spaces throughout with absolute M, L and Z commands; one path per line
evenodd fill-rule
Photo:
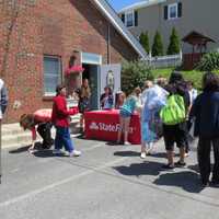
M 183 60 L 182 53 L 177 55 L 157 56 L 157 57 L 151 57 L 151 55 L 149 55 L 148 59 L 146 59 L 146 61 L 151 67 L 155 67 L 155 68 L 169 68 L 169 67 L 181 66 L 182 60 Z

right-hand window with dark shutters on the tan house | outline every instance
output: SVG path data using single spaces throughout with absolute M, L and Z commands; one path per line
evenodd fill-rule
M 182 2 L 164 7 L 164 20 L 174 20 L 182 16 Z

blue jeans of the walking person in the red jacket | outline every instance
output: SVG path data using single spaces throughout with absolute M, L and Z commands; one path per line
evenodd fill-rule
M 69 128 L 56 126 L 55 149 L 60 150 L 62 146 L 67 151 L 73 151 Z

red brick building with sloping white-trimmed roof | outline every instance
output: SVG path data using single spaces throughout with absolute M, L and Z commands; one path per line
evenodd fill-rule
M 4 123 L 51 107 L 73 54 L 85 67 L 146 56 L 105 0 L 0 0 L 0 70 L 10 97 Z

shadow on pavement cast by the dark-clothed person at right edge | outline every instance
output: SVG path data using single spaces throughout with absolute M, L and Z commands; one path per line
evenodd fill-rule
M 165 173 L 160 175 L 153 183 L 155 185 L 182 187 L 188 193 L 199 193 L 203 189 L 198 174 L 189 171 Z

